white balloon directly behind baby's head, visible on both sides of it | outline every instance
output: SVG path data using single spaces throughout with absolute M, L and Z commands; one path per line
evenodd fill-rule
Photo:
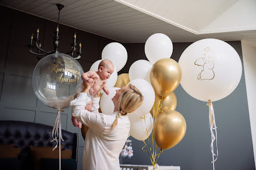
M 92 64 L 90 71 L 97 72 L 98 68 L 99 68 L 100 61 L 102 61 L 102 60 L 95 61 L 94 64 Z M 114 65 L 114 72 L 111 74 L 110 78 L 107 79 L 107 83 L 106 83 L 107 88 L 108 89 L 113 88 L 116 82 L 117 82 L 117 70 Z M 104 93 L 103 90 L 101 90 L 100 92 Z

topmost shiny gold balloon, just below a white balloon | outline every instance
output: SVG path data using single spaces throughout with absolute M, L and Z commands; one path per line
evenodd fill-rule
M 152 67 L 150 81 L 158 96 L 167 96 L 180 84 L 180 65 L 171 58 L 162 58 Z

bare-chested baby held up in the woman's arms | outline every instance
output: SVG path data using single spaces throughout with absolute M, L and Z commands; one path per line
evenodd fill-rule
M 113 72 L 114 72 L 113 63 L 110 60 L 102 60 L 99 63 L 97 72 L 88 71 L 82 74 L 83 81 L 93 82 L 95 80 L 94 85 L 90 88 L 87 94 L 86 105 L 88 108 L 91 108 L 90 106 L 92 104 L 91 97 L 94 96 L 94 94 L 99 91 L 100 86 L 102 86 L 102 84 L 106 82 L 108 78 L 110 78 L 110 75 Z M 106 84 L 103 86 L 102 89 L 107 95 L 109 94 Z M 72 123 L 74 126 L 78 126 L 79 128 L 82 128 L 81 122 L 77 121 L 76 118 L 73 116 L 72 116 Z

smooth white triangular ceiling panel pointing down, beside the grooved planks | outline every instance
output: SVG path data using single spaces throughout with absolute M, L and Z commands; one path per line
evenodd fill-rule
M 155 0 L 116 1 L 192 33 L 198 33 L 238 0 L 161 0 L 157 3 Z

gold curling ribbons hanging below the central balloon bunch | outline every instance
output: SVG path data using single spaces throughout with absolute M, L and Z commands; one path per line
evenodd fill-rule
M 162 105 L 160 104 L 161 101 L 162 101 L 162 97 L 161 97 L 161 100 L 158 102 L 156 115 L 155 115 L 155 111 L 154 111 L 155 109 L 153 110 L 153 125 L 154 125 L 154 120 L 155 120 L 155 118 L 157 117 L 157 113 L 158 113 L 158 112 L 162 112 L 162 111 L 160 110 L 160 109 L 162 108 Z M 154 107 L 154 106 L 153 106 L 153 107 Z M 144 121 L 145 121 L 145 126 L 146 126 L 146 117 L 144 116 L 144 117 L 141 117 L 141 118 L 144 119 Z M 154 126 L 153 126 L 153 128 L 154 128 Z M 152 131 L 153 131 L 153 129 L 152 129 Z M 147 129 L 147 128 L 146 128 L 146 132 L 147 132 L 148 141 L 149 141 L 149 133 L 148 133 L 148 129 Z M 148 150 L 144 150 L 144 148 L 147 147 L 147 144 L 145 143 L 144 140 L 143 140 L 143 143 L 145 144 L 145 146 L 142 147 L 142 151 L 146 152 L 146 151 L 148 151 Z M 149 143 L 150 143 L 150 141 L 149 141 Z M 153 151 L 152 151 L 152 148 L 151 148 L 151 146 L 150 146 L 150 144 L 149 144 L 149 149 L 150 149 L 150 153 L 151 153 L 151 154 L 149 154 L 149 151 L 148 151 L 148 154 L 149 154 L 150 161 L 151 161 L 151 163 L 152 163 L 152 165 L 153 165 L 153 169 L 155 169 L 156 164 L 157 164 L 158 157 L 159 157 L 160 154 L 163 152 L 163 150 L 160 149 L 160 152 L 157 154 L 157 145 L 156 145 L 156 151 L 154 151 L 154 135 L 153 135 L 153 133 L 152 133 L 152 147 L 153 147 Z M 147 147 L 147 148 L 148 148 L 148 147 Z M 151 155 L 151 156 L 150 156 L 150 155 Z

